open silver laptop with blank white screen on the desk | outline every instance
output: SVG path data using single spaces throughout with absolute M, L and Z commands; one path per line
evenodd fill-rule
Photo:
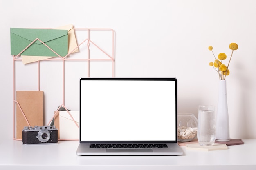
M 77 155 L 182 155 L 176 78 L 81 78 Z

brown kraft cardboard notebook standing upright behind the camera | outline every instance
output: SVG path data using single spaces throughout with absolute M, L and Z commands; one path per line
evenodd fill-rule
M 20 104 L 30 126 L 43 126 L 43 91 L 16 91 Z M 22 129 L 28 126 L 18 104 L 16 104 L 16 139 L 22 139 Z

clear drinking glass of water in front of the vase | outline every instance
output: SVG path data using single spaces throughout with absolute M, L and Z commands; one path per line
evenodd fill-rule
M 216 139 L 215 113 L 212 105 L 198 106 L 198 143 L 211 146 Z

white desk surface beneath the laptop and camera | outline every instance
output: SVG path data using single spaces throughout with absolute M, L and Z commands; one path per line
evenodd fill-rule
M 2 138 L 2 137 L 1 137 Z M 77 156 L 78 141 L 51 145 L 22 145 L 0 140 L 1 170 L 256 170 L 256 139 L 227 150 L 186 150 L 181 156 Z

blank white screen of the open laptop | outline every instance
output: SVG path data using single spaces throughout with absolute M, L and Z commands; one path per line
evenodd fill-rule
M 81 141 L 176 140 L 176 81 L 80 83 Z

